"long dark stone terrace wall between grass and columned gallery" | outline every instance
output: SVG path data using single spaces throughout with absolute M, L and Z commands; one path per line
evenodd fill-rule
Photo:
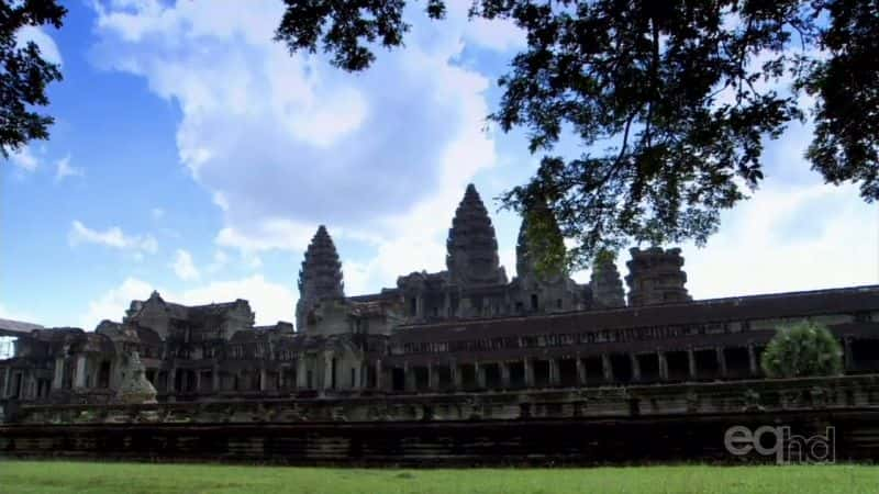
M 282 463 L 772 461 L 734 457 L 742 425 L 824 434 L 838 460 L 879 454 L 879 377 L 528 393 L 22 406 L 0 456 Z

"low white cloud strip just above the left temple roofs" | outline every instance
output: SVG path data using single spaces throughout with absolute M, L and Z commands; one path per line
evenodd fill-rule
M 82 328 L 91 330 L 102 319 L 121 321 L 132 300 L 146 300 L 153 290 L 158 290 L 167 302 L 185 305 L 246 299 L 251 303 L 251 308 L 256 313 L 256 323 L 260 325 L 291 321 L 293 315 L 291 301 L 296 300 L 296 295 L 288 287 L 267 281 L 262 274 L 240 280 L 215 281 L 182 292 L 165 290 L 147 281 L 130 277 L 119 287 L 108 290 L 90 302 L 79 318 L 79 324 Z

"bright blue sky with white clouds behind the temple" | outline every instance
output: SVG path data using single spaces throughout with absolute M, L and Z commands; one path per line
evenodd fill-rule
M 92 329 L 157 289 L 291 321 L 319 224 L 347 293 L 374 292 L 443 269 L 468 182 L 493 212 L 534 170 L 523 133 L 485 130 L 523 37 L 467 22 L 469 1 L 442 23 L 412 12 L 407 48 L 357 75 L 271 42 L 280 1 L 242 4 L 73 1 L 60 31 L 22 34 L 65 80 L 49 90 L 51 141 L 0 166 L 0 317 Z M 693 296 L 879 280 L 879 211 L 821 183 L 810 135 L 797 124 L 769 143 L 755 198 L 706 247 L 682 246 Z M 519 220 L 492 218 L 513 274 Z

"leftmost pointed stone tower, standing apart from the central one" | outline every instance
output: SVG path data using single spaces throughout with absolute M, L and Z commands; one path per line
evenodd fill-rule
M 305 327 L 308 312 L 322 300 L 341 300 L 345 297 L 342 282 L 342 262 L 338 260 L 336 246 L 321 225 L 305 250 L 305 259 L 299 271 L 299 302 L 296 304 L 296 327 Z

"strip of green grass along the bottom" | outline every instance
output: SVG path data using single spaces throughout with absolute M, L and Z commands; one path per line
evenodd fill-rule
M 879 493 L 879 468 L 380 470 L 1 461 L 0 493 Z

